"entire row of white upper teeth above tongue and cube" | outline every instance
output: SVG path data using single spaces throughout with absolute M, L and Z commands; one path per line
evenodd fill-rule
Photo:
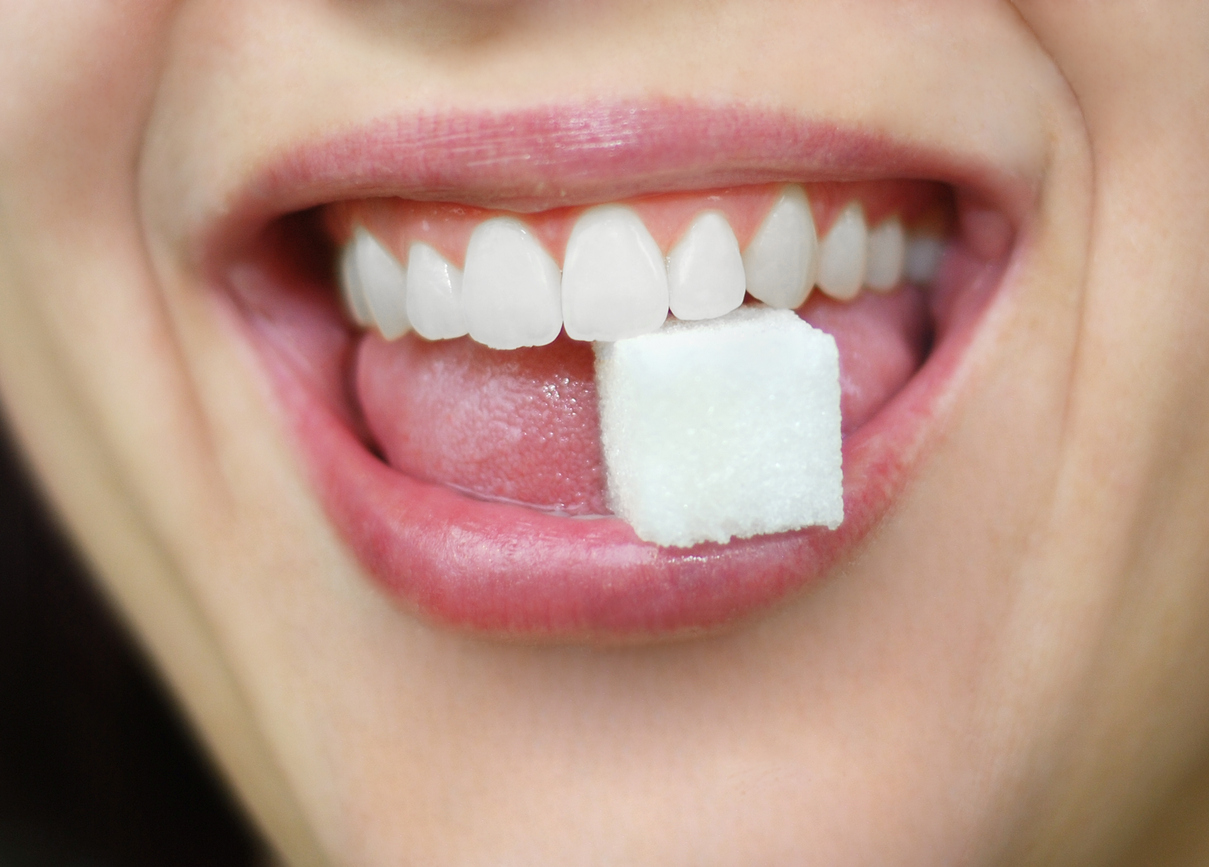
M 352 320 L 388 339 L 410 329 L 429 340 L 469 334 L 510 349 L 549 343 L 563 328 L 574 340 L 625 340 L 658 330 L 669 312 L 713 319 L 742 306 L 745 291 L 794 310 L 816 285 L 848 301 L 862 287 L 889 293 L 904 279 L 936 279 L 942 237 L 908 233 L 899 215 L 870 227 L 852 200 L 820 238 L 803 186 L 775 195 L 746 249 L 722 210 L 702 209 L 666 258 L 642 206 L 589 208 L 571 227 L 561 271 L 538 230 L 516 216 L 474 226 L 464 271 L 418 239 L 400 262 L 358 226 L 337 262 L 340 291 Z

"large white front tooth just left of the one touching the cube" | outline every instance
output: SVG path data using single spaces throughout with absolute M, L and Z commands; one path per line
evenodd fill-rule
M 493 349 L 544 346 L 559 336 L 559 266 L 523 222 L 496 216 L 475 227 L 462 310 L 470 336 Z

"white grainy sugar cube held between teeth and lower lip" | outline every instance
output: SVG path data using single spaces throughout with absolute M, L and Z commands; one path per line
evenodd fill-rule
M 844 520 L 839 353 L 793 311 L 740 307 L 596 345 L 613 511 L 667 547 Z

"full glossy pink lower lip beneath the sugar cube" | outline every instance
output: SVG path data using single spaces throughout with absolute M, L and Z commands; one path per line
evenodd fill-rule
M 617 519 L 568 519 L 479 501 L 391 468 L 358 435 L 357 420 L 300 374 L 289 341 L 274 334 L 279 329 L 261 306 L 241 302 L 245 293 L 235 285 L 215 296 L 229 311 L 235 300 L 233 320 L 262 359 L 330 520 L 387 595 L 423 619 L 476 634 L 641 641 L 724 628 L 851 556 L 935 441 L 1002 273 L 1001 265 L 960 252 L 949 256 L 938 290 L 951 285 L 955 302 L 931 354 L 844 441 L 845 520 L 838 530 L 690 549 L 644 543 Z M 296 284 L 270 291 L 305 294 Z

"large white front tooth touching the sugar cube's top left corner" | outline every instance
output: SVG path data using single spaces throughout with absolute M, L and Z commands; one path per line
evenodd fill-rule
M 562 319 L 575 340 L 614 341 L 667 319 L 667 266 L 632 209 L 602 204 L 571 230 L 562 264 Z

